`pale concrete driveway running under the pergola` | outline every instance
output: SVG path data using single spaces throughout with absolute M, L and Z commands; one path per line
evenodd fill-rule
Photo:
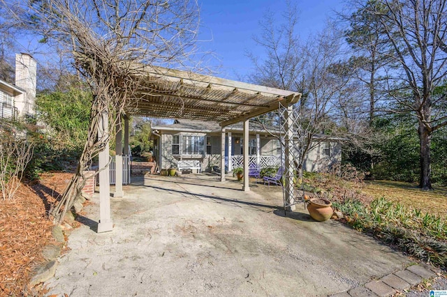
M 314 222 L 302 204 L 284 217 L 280 188 L 240 188 L 216 176 L 137 179 L 111 199 L 105 234 L 94 231 L 96 194 L 49 294 L 328 296 L 410 263 L 339 222 Z

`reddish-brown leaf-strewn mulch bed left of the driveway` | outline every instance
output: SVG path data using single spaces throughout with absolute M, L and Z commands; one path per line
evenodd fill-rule
M 71 176 L 42 174 L 22 183 L 13 200 L 0 200 L 0 296 L 27 295 L 31 271 L 44 261 L 41 250 L 54 243 L 47 212 Z

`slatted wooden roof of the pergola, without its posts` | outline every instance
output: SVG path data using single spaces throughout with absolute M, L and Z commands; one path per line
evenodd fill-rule
M 221 126 L 244 121 L 297 102 L 301 94 L 267 86 L 156 66 L 138 66 L 134 113 L 154 117 L 209 119 Z

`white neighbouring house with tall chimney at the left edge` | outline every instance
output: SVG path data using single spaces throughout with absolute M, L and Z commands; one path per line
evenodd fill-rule
M 15 54 L 15 84 L 0 79 L 0 117 L 34 116 L 36 61 L 29 54 Z

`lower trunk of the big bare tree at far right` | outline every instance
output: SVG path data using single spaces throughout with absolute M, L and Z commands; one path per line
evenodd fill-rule
M 419 142 L 420 142 L 420 178 L 419 188 L 422 190 L 433 190 L 432 181 L 430 181 L 431 174 L 431 158 L 430 158 L 430 143 L 432 141 L 432 133 L 419 121 Z

